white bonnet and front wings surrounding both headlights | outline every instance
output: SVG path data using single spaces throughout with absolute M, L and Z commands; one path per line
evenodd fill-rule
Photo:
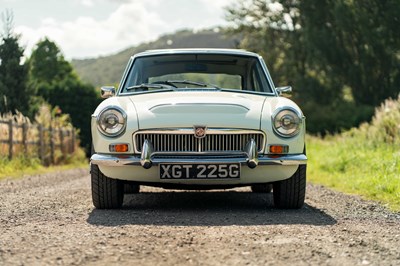
M 95 120 L 92 135 L 95 150 L 108 153 L 110 143 L 132 143 L 132 135 L 139 129 L 191 128 L 205 125 L 209 128 L 237 128 L 262 130 L 267 145 L 287 144 L 290 153 L 302 153 L 304 132 L 284 139 L 273 133 L 271 116 L 280 107 L 290 106 L 301 113 L 293 101 L 283 97 L 261 96 L 231 92 L 160 92 L 112 97 L 103 101 L 94 116 L 106 106 L 121 106 L 128 115 L 125 134 L 108 138 L 97 132 Z

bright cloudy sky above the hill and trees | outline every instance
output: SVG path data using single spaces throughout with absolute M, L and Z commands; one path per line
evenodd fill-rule
M 14 32 L 30 54 L 48 37 L 67 59 L 115 54 L 182 29 L 226 25 L 224 7 L 235 0 L 0 0 L 11 10 Z M 1 33 L 4 32 L 3 19 Z

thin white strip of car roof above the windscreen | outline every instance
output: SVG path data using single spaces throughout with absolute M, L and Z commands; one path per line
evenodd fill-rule
M 157 49 L 157 50 L 148 50 L 145 52 L 137 53 L 133 57 L 167 55 L 167 54 L 221 54 L 221 55 L 260 57 L 258 54 L 246 50 L 219 49 L 219 48 Z

